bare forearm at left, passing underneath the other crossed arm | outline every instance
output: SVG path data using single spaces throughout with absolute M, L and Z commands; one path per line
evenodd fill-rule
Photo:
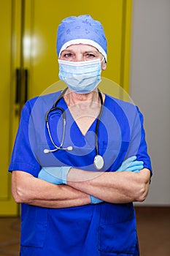
M 55 185 L 24 171 L 12 172 L 12 196 L 16 203 L 47 208 L 83 206 L 90 203 L 88 194 L 66 185 Z

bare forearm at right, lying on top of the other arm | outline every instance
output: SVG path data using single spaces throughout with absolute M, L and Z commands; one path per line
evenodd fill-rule
M 138 173 L 94 173 L 71 169 L 67 178 L 70 187 L 109 203 L 143 201 L 147 197 L 149 183 L 150 170 L 146 168 Z

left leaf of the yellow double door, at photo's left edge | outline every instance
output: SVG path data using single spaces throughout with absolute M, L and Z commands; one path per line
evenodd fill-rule
M 7 172 L 13 139 L 18 126 L 18 103 L 15 102 L 15 75 L 20 67 L 20 1 L 0 1 L 0 215 L 16 215 L 18 206 L 12 199 L 11 176 Z M 14 56 L 15 55 L 15 56 Z

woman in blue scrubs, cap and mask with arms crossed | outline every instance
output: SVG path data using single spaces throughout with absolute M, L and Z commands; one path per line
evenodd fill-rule
M 57 53 L 67 89 L 26 102 L 9 165 L 20 255 L 139 255 L 133 202 L 152 175 L 142 114 L 98 91 L 107 41 L 90 15 L 62 20 Z

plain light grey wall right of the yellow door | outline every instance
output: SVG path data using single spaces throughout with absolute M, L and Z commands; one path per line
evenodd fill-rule
M 170 0 L 134 0 L 130 94 L 154 171 L 144 204 L 170 205 Z

